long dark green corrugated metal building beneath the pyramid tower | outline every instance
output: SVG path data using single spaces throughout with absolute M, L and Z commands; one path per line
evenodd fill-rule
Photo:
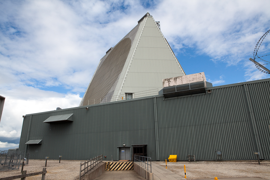
M 132 159 L 133 154 L 186 161 L 270 160 L 270 79 L 205 88 L 205 93 L 163 95 L 75 107 L 24 117 L 19 150 L 30 158 Z M 211 93 L 207 93 L 211 90 Z M 208 91 L 210 92 L 210 91 Z M 125 145 L 125 146 L 124 146 Z M 124 154 L 124 156 L 123 156 Z

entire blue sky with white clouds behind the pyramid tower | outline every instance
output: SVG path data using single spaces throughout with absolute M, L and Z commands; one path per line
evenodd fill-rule
M 268 0 L 0 0 L 0 150 L 19 146 L 22 115 L 79 106 L 100 59 L 147 12 L 186 74 L 205 72 L 214 86 L 270 78 L 248 60 L 270 29 L 269 7 Z M 269 36 L 261 55 L 270 54 Z

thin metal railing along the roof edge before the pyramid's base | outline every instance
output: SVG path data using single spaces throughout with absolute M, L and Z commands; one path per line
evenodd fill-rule
M 134 93 L 125 93 L 123 95 L 109 96 L 109 97 L 104 97 L 104 98 L 89 99 L 88 105 L 135 99 L 135 98 L 143 98 L 146 96 L 154 96 L 154 95 L 158 95 L 158 89 L 151 89 L 151 90 L 134 92 Z

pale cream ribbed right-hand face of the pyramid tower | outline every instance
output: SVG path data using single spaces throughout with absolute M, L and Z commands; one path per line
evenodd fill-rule
M 162 79 L 185 75 L 153 17 L 146 18 L 120 94 L 159 91 L 163 87 Z

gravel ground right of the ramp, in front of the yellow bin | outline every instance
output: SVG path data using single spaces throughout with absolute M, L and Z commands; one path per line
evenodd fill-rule
M 165 167 L 165 163 L 159 165 Z M 270 162 L 230 162 L 230 163 L 167 163 L 167 168 L 184 178 L 184 165 L 187 179 L 214 179 L 256 177 L 270 180 Z

